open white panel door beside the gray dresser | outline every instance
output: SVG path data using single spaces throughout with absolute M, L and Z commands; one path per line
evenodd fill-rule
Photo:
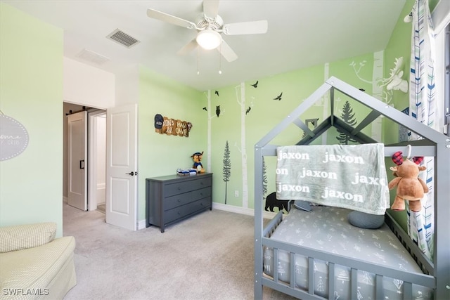
M 106 223 L 136 230 L 137 105 L 106 110 Z

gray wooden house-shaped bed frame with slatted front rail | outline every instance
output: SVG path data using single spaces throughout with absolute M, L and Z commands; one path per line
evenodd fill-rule
M 356 128 L 342 121 L 333 114 L 335 91 L 340 91 L 353 98 L 359 103 L 365 105 L 371 112 L 356 126 Z M 320 100 L 326 93 L 329 93 L 330 115 L 316 129 L 311 130 L 300 119 L 300 116 L 316 101 Z M 399 238 L 401 244 L 411 254 L 418 266 L 423 270 L 423 274 L 409 273 L 403 270 L 381 266 L 376 263 L 351 259 L 345 256 L 322 252 L 311 248 L 301 247 L 297 244 L 271 240 L 269 237 L 275 228 L 283 219 L 282 211 L 263 227 L 263 159 L 264 157 L 276 157 L 277 145 L 271 145 L 270 142 L 279 133 L 286 129 L 290 124 L 295 124 L 304 133 L 305 137 L 297 145 L 308 145 L 317 137 L 321 136 L 331 126 L 335 126 L 340 131 L 352 136 L 359 143 L 378 143 L 378 141 L 369 138 L 361 129 L 371 124 L 377 117 L 384 116 L 397 124 L 417 133 L 423 139 L 410 141 L 407 143 L 397 143 L 385 145 L 385 157 L 391 157 L 394 152 L 402 151 L 408 153 L 411 150 L 411 156 L 435 157 L 434 167 L 434 190 L 435 190 L 435 237 L 433 261 L 430 261 L 411 240 L 409 235 L 394 221 L 387 209 L 385 214 L 385 223 L 392 229 L 392 232 Z M 382 141 L 381 141 L 382 142 Z M 412 148 L 408 148 L 412 145 Z M 386 103 L 374 98 L 373 96 L 359 91 L 340 79 L 330 77 L 322 86 L 311 94 L 303 103 L 301 103 L 293 112 L 288 115 L 274 129 L 269 131 L 255 145 L 255 299 L 262 299 L 263 286 L 276 289 L 279 292 L 295 296 L 299 299 L 325 299 L 322 296 L 314 294 L 313 265 L 314 259 L 326 261 L 330 278 L 334 277 L 335 265 L 351 268 L 350 289 L 352 299 L 357 299 L 357 270 L 365 270 L 375 274 L 375 299 L 383 299 L 383 277 L 397 278 L 404 281 L 403 297 L 412 299 L 412 285 L 421 285 L 433 290 L 433 296 L 436 300 L 450 299 L 450 138 L 444 134 L 431 129 L 418 122 L 416 119 L 405 115 L 403 112 L 390 107 Z M 263 248 L 270 247 L 274 249 L 274 261 L 278 259 L 278 252 L 288 252 L 290 254 L 290 282 L 278 280 L 278 273 L 273 276 L 263 273 Z M 307 275 L 307 289 L 300 289 L 295 284 L 294 257 L 300 254 L 307 257 L 309 271 Z M 334 299 L 333 291 L 335 283 L 333 280 L 328 282 L 328 299 Z

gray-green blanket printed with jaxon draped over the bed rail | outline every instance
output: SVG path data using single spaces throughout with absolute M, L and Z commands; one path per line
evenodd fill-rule
M 276 199 L 367 214 L 390 207 L 384 145 L 290 145 L 276 149 Z

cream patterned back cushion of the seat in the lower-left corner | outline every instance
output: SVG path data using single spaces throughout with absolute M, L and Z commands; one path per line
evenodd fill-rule
M 55 239 L 56 223 L 36 223 L 0 228 L 0 253 L 38 247 Z

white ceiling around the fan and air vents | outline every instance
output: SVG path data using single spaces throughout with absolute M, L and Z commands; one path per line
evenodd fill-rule
M 266 34 L 222 35 L 238 59 L 217 50 L 177 51 L 196 31 L 148 18 L 147 8 L 195 22 L 203 1 L 3 1 L 64 30 L 64 55 L 108 72 L 141 64 L 199 91 L 385 49 L 406 0 L 221 0 L 225 24 L 267 20 Z M 140 41 L 107 39 L 116 29 Z M 83 49 L 109 60 L 79 58 Z M 222 74 L 219 74 L 219 68 Z M 200 74 L 197 74 L 197 71 Z

